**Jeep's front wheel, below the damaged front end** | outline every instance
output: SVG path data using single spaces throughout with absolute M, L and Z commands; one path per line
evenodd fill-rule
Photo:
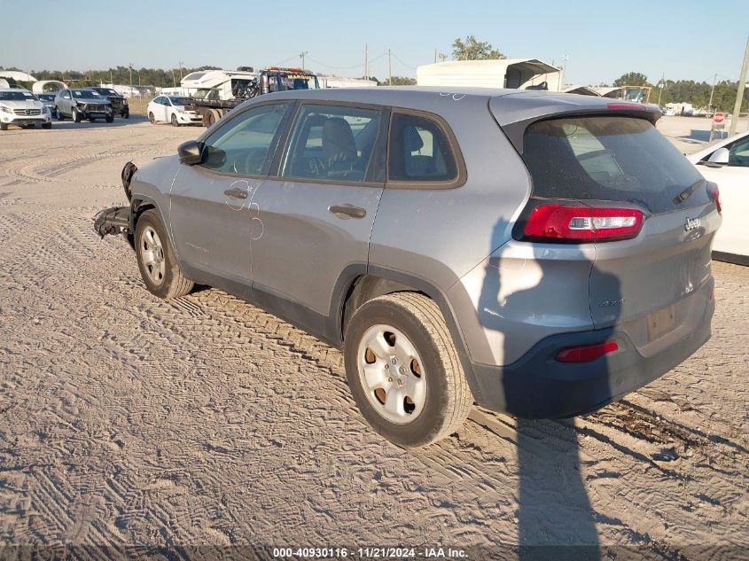
M 138 269 L 149 292 L 169 300 L 188 294 L 194 284 L 183 275 L 159 214 L 146 210 L 136 224 Z

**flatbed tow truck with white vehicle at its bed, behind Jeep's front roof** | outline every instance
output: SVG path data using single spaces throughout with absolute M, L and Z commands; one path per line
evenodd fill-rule
M 269 66 L 255 72 L 252 66 L 237 70 L 204 70 L 187 74 L 180 85 L 191 93 L 203 126 L 210 127 L 234 107 L 252 97 L 274 91 L 319 90 L 316 74 L 301 68 Z

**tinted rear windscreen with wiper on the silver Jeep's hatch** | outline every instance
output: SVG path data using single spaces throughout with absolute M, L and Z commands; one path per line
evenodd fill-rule
M 709 202 L 706 189 L 678 195 L 704 179 L 649 121 L 571 117 L 530 125 L 523 160 L 534 197 L 626 201 L 652 214 Z

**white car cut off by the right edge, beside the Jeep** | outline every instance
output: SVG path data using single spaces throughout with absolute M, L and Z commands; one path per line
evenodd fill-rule
M 687 155 L 707 181 L 721 191 L 723 223 L 715 235 L 713 256 L 749 265 L 749 131 L 710 144 Z

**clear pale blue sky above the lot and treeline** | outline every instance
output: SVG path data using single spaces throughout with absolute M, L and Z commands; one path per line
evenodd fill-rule
M 449 53 L 456 37 L 476 35 L 510 58 L 560 65 L 567 55 L 568 83 L 612 82 L 628 71 L 651 82 L 663 73 L 709 82 L 715 73 L 737 80 L 749 35 L 745 0 L 0 0 L 0 9 L 0 66 L 26 71 L 168 68 L 179 61 L 299 66 L 299 53 L 307 51 L 306 66 L 316 72 L 358 76 L 369 43 L 370 74 L 382 80 L 387 49 L 394 52 L 393 74 L 415 76 L 415 66 L 433 62 L 435 49 Z

